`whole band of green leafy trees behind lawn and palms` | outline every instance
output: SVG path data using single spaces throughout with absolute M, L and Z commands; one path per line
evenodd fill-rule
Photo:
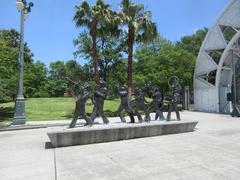
M 133 63 L 134 85 L 145 88 L 158 86 L 168 90 L 167 80 L 172 75 L 181 79 L 182 85 L 192 85 L 195 60 L 207 29 L 200 29 L 191 36 L 173 43 L 160 35 L 152 42 L 135 47 Z M 49 68 L 37 60 L 25 44 L 24 96 L 62 97 L 72 92 L 65 77 L 74 81 L 93 84 L 91 62 L 91 40 L 85 32 L 75 40 L 76 58 L 86 58 L 88 63 L 81 66 L 77 60 L 52 62 Z M 88 39 L 88 40 L 86 40 Z M 126 49 L 120 41 L 107 37 L 99 41 L 100 74 L 108 83 L 109 97 L 117 96 L 117 87 L 127 82 Z M 114 43 L 113 43 L 114 42 Z M 104 50 L 100 50 L 101 46 Z M 19 33 L 13 29 L 0 30 L 0 102 L 13 101 L 17 94 Z M 117 51 L 118 50 L 118 51 Z

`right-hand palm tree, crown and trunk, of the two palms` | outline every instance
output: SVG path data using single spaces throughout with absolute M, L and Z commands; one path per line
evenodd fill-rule
M 151 41 L 157 36 L 156 24 L 151 20 L 151 12 L 145 11 L 142 4 L 132 3 L 131 0 L 122 0 L 120 16 L 123 25 L 127 27 L 128 44 L 128 94 L 132 93 L 132 59 L 135 42 Z

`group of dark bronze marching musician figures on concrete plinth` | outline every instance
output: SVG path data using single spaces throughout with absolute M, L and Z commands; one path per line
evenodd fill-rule
M 81 83 L 76 83 L 70 79 L 68 80 L 73 83 L 74 93 L 77 96 L 75 111 L 69 128 L 76 126 L 78 118 L 83 118 L 86 121 L 86 126 L 92 126 L 98 115 L 102 118 L 104 124 L 108 124 L 109 120 L 104 114 L 103 110 L 104 101 L 108 94 L 106 82 L 104 80 L 100 80 L 100 86 L 92 93 L 89 85 L 82 85 Z M 169 108 L 166 120 L 171 120 L 172 111 L 176 111 L 177 120 L 180 120 L 180 114 L 177 105 L 181 101 L 182 88 L 179 84 L 179 79 L 176 76 L 173 76 L 169 79 L 168 84 L 172 94 L 167 98 L 169 101 Z M 155 120 L 165 120 L 163 116 L 164 97 L 159 88 L 154 88 L 152 92 L 153 101 L 151 103 L 146 102 L 144 92 L 138 87 L 134 89 L 134 99 L 131 101 L 129 101 L 128 90 L 126 86 L 120 86 L 118 89 L 118 94 L 121 100 L 118 108 L 118 114 L 122 123 L 126 123 L 124 111 L 130 117 L 130 123 L 135 123 L 134 115 L 137 116 L 139 123 L 142 123 L 143 121 L 150 122 L 150 113 L 153 111 L 156 112 Z M 88 117 L 85 112 L 85 104 L 89 98 L 91 98 L 94 105 L 90 117 Z M 142 118 L 140 111 L 144 112 L 144 119 Z

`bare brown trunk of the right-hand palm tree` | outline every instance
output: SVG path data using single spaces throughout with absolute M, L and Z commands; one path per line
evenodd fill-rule
M 132 97 L 132 57 L 133 57 L 134 30 L 128 29 L 128 99 Z

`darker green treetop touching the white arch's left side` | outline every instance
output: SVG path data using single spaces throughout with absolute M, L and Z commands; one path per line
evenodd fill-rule
M 197 57 L 207 32 L 207 28 L 199 29 L 193 35 L 182 37 L 181 40 L 177 42 L 177 46 L 193 53 Z

